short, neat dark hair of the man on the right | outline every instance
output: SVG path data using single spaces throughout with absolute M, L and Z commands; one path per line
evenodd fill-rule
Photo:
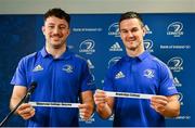
M 126 12 L 123 14 L 121 14 L 120 20 L 119 20 L 119 24 L 123 21 L 123 20 L 129 20 L 129 18 L 138 18 L 140 21 L 141 26 L 144 26 L 143 20 L 140 16 L 139 13 L 136 12 Z

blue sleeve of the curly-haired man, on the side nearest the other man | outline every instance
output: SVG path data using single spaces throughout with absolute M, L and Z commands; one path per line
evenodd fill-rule
M 81 91 L 95 90 L 94 76 L 91 74 L 87 62 L 83 63 L 82 74 L 81 74 Z

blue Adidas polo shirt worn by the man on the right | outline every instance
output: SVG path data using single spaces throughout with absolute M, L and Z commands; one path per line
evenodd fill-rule
M 110 67 L 104 90 L 160 95 L 178 93 L 167 65 L 147 51 L 138 57 L 126 55 Z M 165 126 L 165 117 L 150 104 L 150 100 L 115 98 L 114 126 Z

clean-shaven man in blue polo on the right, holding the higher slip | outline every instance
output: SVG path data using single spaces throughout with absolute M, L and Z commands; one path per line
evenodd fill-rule
M 165 117 L 180 114 L 178 91 L 169 68 L 144 50 L 145 29 L 140 15 L 127 12 L 119 21 L 127 55 L 109 68 L 104 91 L 96 90 L 96 112 L 103 118 L 114 114 L 114 126 L 165 126 Z M 106 91 L 154 94 L 151 100 L 107 97 Z

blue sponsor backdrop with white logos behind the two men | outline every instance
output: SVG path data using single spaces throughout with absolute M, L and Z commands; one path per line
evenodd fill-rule
M 125 49 L 119 38 L 120 14 L 73 14 L 69 49 L 86 57 L 98 88 L 102 88 L 106 69 L 116 63 Z M 181 114 L 167 118 L 167 126 L 195 126 L 193 102 L 193 72 L 195 72 L 194 29 L 195 14 L 142 14 L 146 36 L 144 46 L 171 69 L 179 90 Z M 44 44 L 41 33 L 42 15 L 0 15 L 0 120 L 9 113 L 13 86 L 10 85 L 22 56 L 40 50 Z M 101 119 L 94 113 L 88 121 L 79 118 L 81 126 L 112 126 L 114 116 Z M 24 126 L 14 116 L 6 126 Z

